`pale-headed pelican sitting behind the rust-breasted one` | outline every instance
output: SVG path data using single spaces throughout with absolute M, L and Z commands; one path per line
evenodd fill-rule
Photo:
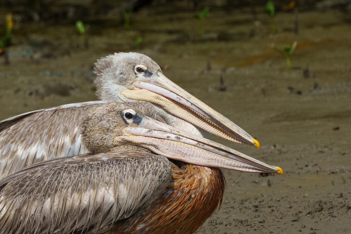
M 129 103 L 147 116 L 184 131 L 203 131 L 238 143 L 259 142 L 222 114 L 166 78 L 151 58 L 115 53 L 95 63 L 102 101 L 75 103 L 17 115 L 0 122 L 0 179 L 35 162 L 90 151 L 81 144 L 79 122 L 104 101 Z

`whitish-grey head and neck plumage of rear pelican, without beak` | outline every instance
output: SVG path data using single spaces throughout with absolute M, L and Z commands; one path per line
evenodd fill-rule
M 193 123 L 183 120 L 174 113 L 165 111 L 163 107 L 154 103 L 131 100 L 125 98 L 121 92 L 125 89 L 134 89 L 133 82 L 137 81 L 137 75 L 134 68 L 137 65 L 145 65 L 147 70 L 144 77 L 151 78 L 151 75 L 162 73 L 160 66 L 151 58 L 144 54 L 129 52 L 129 53 L 114 53 L 95 63 L 95 74 L 97 75 L 95 85 L 97 87 L 97 95 L 101 100 L 117 101 L 128 103 L 131 106 L 137 107 L 148 115 L 143 108 L 144 105 L 151 105 L 155 111 L 155 118 L 153 119 L 165 122 L 168 125 L 180 128 L 184 131 L 203 135 L 205 132 L 200 131 Z M 149 107 L 150 108 L 150 107 Z M 205 133 L 206 134 L 206 133 Z M 206 135 L 208 136 L 208 135 Z

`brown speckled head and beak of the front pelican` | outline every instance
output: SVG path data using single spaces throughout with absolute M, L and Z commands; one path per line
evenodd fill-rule
M 151 119 L 125 103 L 110 102 L 93 108 L 81 124 L 81 136 L 92 153 L 151 151 L 199 166 L 283 173 L 279 167 Z

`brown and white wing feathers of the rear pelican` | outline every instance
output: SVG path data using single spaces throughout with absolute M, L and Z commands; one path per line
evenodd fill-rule
M 35 162 L 88 153 L 80 142 L 82 116 L 102 101 L 28 112 L 0 122 L 0 179 Z

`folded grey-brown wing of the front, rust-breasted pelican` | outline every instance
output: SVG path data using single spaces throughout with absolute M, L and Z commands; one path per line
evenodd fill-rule
M 146 152 L 39 162 L 0 181 L 0 233 L 101 233 L 151 205 L 171 164 Z

